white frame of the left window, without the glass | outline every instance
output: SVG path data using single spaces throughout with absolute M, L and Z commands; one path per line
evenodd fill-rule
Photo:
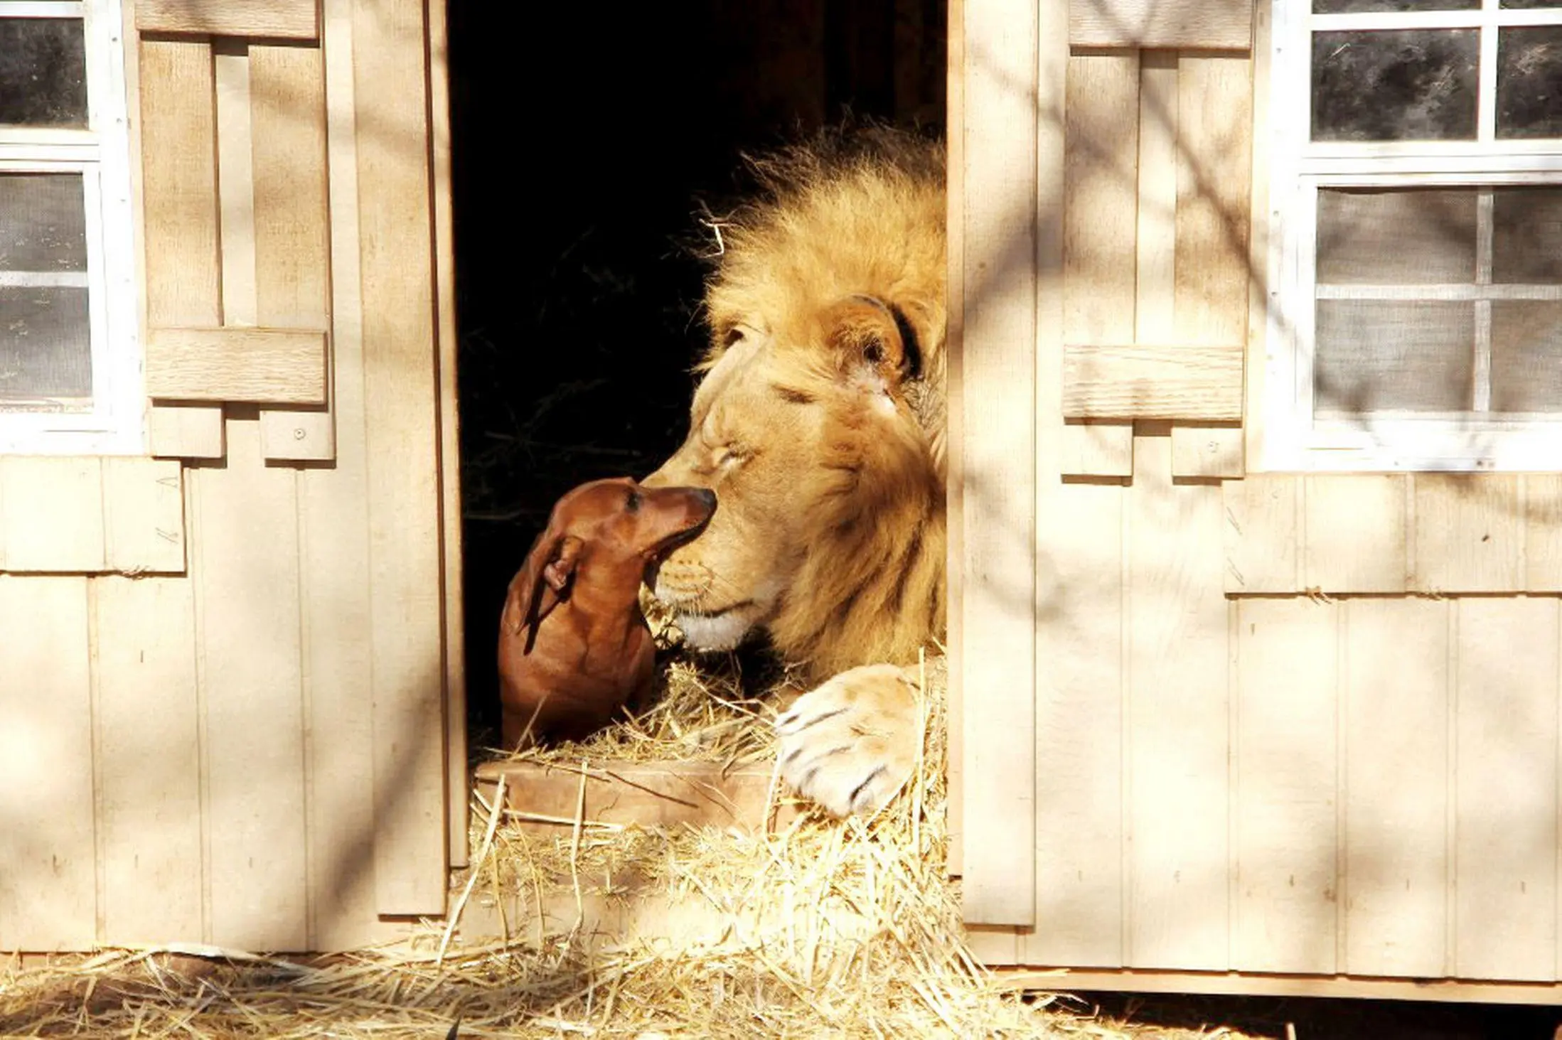
M 87 128 L 0 128 L 0 173 L 80 173 L 86 206 L 92 409 L 5 411 L 0 454 L 142 454 L 145 389 L 136 309 L 130 125 L 120 0 L 17 2 L 6 17 L 81 19 Z M 0 272 L 0 280 L 6 278 Z M 12 276 L 27 280 L 27 276 Z M 50 278 L 50 276 L 44 276 Z M 52 284 L 80 286 L 80 276 Z M 27 284 L 39 284 L 34 278 Z

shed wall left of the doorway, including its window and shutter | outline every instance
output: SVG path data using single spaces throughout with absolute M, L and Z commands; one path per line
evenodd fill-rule
M 0 949 L 444 914 L 442 19 L 0 3 Z

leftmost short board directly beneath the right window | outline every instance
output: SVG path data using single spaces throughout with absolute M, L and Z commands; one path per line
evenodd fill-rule
M 1226 517 L 1225 589 L 1296 592 L 1301 586 L 1301 478 L 1248 476 L 1221 486 Z

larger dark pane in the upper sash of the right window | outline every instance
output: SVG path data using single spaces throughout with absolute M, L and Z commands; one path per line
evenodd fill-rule
M 1314 141 L 1473 141 L 1478 30 L 1312 34 Z

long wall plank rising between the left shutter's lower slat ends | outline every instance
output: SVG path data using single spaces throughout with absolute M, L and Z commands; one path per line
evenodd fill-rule
M 305 949 L 305 720 L 292 470 L 259 423 L 228 422 L 228 465 L 189 473 L 211 862 L 211 942 Z

